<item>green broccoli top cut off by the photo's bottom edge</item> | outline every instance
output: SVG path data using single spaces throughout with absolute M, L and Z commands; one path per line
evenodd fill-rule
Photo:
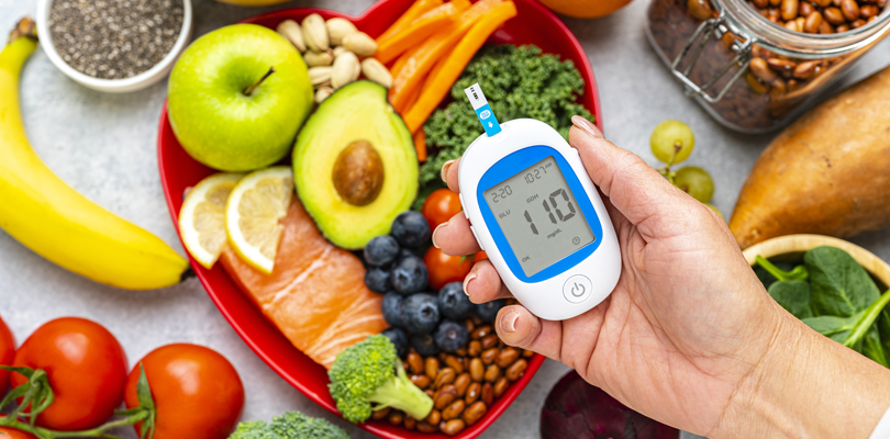
M 288 412 L 271 424 L 262 420 L 241 423 L 229 439 L 349 439 L 349 435 L 324 419 Z

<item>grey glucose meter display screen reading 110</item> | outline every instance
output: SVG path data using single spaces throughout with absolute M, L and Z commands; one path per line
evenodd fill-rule
M 488 189 L 485 198 L 526 277 L 597 239 L 553 156 Z

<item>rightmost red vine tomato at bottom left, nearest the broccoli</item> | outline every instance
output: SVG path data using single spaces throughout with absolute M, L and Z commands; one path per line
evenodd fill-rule
M 237 371 L 216 351 L 177 344 L 157 348 L 141 361 L 157 407 L 154 439 L 225 439 L 244 406 Z M 127 408 L 140 405 L 140 365 L 126 380 Z M 136 434 L 141 425 L 136 424 Z

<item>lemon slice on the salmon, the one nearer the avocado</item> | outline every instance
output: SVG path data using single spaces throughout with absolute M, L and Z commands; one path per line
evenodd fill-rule
M 225 230 L 238 256 L 268 274 L 281 240 L 281 219 L 293 198 L 293 171 L 275 166 L 244 177 L 225 206 Z

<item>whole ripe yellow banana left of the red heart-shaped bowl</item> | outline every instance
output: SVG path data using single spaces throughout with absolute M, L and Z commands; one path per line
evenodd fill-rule
M 179 283 L 188 262 L 145 229 L 87 200 L 31 148 L 19 106 L 19 74 L 37 47 L 22 20 L 0 52 L 0 227 L 46 259 L 129 290 Z

